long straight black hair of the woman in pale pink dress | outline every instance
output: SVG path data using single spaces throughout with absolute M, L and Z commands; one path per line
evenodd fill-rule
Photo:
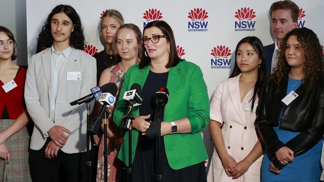
M 234 65 L 233 72 L 229 76 L 229 78 L 236 77 L 240 73 L 242 73 L 242 71 L 240 70 L 240 68 L 237 65 L 236 57 L 237 57 L 238 48 L 243 43 L 249 43 L 253 47 L 255 52 L 257 52 L 257 54 L 259 56 L 259 59 L 261 59 L 261 63 L 259 65 L 259 69 L 258 69 L 258 79 L 257 79 L 257 82 L 254 85 L 253 96 L 251 98 L 251 101 L 252 101 L 252 109 L 251 109 L 251 111 L 252 111 L 253 107 L 254 107 L 255 98 L 256 98 L 256 96 L 260 96 L 263 83 L 266 80 L 266 62 L 265 62 L 265 59 L 264 59 L 264 50 L 263 50 L 263 44 L 262 44 L 261 40 L 258 37 L 254 37 L 254 36 L 252 36 L 252 37 L 244 37 L 242 40 L 240 40 L 237 43 L 237 46 L 236 46 L 236 49 L 235 49 L 235 65 Z

